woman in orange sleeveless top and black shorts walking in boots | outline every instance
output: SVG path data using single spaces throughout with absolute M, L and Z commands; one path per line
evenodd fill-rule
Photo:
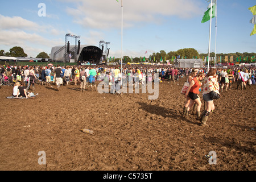
M 199 97 L 199 89 L 201 88 L 201 80 L 203 80 L 204 78 L 204 73 L 200 72 L 198 73 L 198 75 L 193 78 L 193 80 L 191 81 L 187 93 L 185 94 L 185 98 L 189 97 L 191 98 L 191 101 L 189 102 L 189 105 L 187 107 L 186 113 L 185 115 L 188 116 L 188 112 L 189 109 L 193 106 L 193 104 L 197 104 L 197 108 L 196 108 L 196 116 L 197 119 L 200 119 L 200 109 L 201 109 L 201 99 Z

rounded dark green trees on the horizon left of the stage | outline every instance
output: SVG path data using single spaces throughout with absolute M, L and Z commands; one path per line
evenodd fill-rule
M 0 56 L 9 56 L 9 57 L 27 57 L 27 54 L 24 52 L 22 47 L 15 46 L 10 49 L 10 52 L 5 52 L 4 50 L 0 51 Z M 36 58 L 46 58 L 50 57 L 46 52 L 40 52 Z

